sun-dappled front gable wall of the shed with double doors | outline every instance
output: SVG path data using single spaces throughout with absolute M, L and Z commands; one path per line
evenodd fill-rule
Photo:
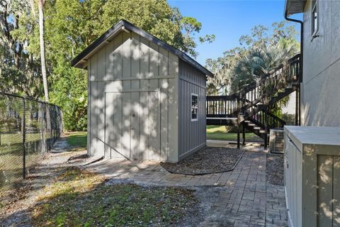
M 176 55 L 133 32 L 98 50 L 89 60 L 89 153 L 176 162 L 178 74 Z

